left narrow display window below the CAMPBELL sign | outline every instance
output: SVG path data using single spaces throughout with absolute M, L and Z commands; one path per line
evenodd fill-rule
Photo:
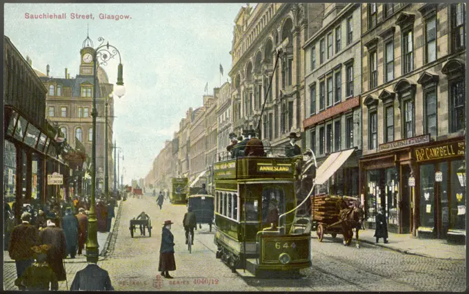
M 420 166 L 420 225 L 435 227 L 435 164 Z

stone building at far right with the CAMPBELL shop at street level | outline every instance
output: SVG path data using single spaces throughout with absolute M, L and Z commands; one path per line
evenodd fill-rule
M 457 175 L 465 154 L 465 16 L 463 3 L 362 5 L 360 193 L 370 228 L 384 207 L 392 232 L 466 235 Z

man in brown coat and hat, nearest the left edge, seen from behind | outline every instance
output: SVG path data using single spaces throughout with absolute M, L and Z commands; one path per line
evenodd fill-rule
M 26 268 L 34 262 L 34 252 L 31 248 L 39 242 L 39 230 L 29 223 L 30 219 L 30 213 L 21 215 L 21 224 L 13 228 L 8 243 L 10 258 L 14 259 L 17 265 L 17 277 L 21 277 Z

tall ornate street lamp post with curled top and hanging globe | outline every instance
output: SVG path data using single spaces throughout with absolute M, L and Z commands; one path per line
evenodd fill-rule
M 122 97 L 126 89 L 123 87 L 123 66 L 121 63 L 121 54 L 117 48 L 109 45 L 109 42 L 106 45 L 103 44 L 103 37 L 99 37 L 98 41 L 101 43 L 99 46 L 93 50 L 93 95 L 92 95 L 92 169 L 91 169 L 91 204 L 90 204 L 90 217 L 88 220 L 88 239 L 86 240 L 86 260 L 88 262 L 97 262 L 99 258 L 99 244 L 98 244 L 98 230 L 97 230 L 97 218 L 96 218 L 96 208 L 95 208 L 95 194 L 96 194 L 96 118 L 98 116 L 98 111 L 96 108 L 96 96 L 97 96 L 97 62 L 98 59 L 101 61 L 100 65 L 106 65 L 107 61 L 110 58 L 114 58 L 116 55 L 119 55 L 119 66 L 117 68 L 117 87 L 114 90 L 114 94 L 118 97 Z M 109 48 L 112 48 L 111 50 Z M 107 112 L 106 112 L 107 114 Z M 107 130 L 107 126 L 106 126 Z M 106 150 L 107 153 L 107 150 Z

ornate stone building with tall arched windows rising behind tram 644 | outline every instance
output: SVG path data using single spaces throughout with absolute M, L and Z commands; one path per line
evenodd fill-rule
M 303 49 L 319 28 L 323 3 L 259 3 L 242 7 L 234 19 L 232 68 L 233 129 L 254 129 L 272 146 L 301 131 L 303 101 Z M 277 50 L 288 39 L 274 73 Z M 273 78 L 272 78 L 273 75 Z M 270 79 L 272 87 L 268 92 Z M 261 117 L 264 98 L 266 108 Z M 259 124 L 261 119 L 261 124 Z

